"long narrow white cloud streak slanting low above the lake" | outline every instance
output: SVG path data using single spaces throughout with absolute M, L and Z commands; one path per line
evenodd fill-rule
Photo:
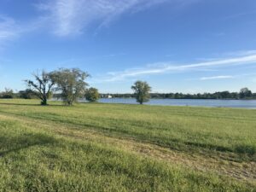
M 218 59 L 213 61 L 204 61 L 193 64 L 182 64 L 182 65 L 174 65 L 170 62 L 165 63 L 155 63 L 149 65 L 149 67 L 142 67 L 136 69 L 127 69 L 123 72 L 111 72 L 107 74 L 105 79 L 102 79 L 102 82 L 115 82 L 124 79 L 140 77 L 143 75 L 153 75 L 153 74 L 161 74 L 161 73 L 180 73 L 192 70 L 211 70 L 216 67 L 231 67 L 237 65 L 247 65 L 247 64 L 255 64 L 256 65 L 256 54 L 253 55 L 245 55 L 241 57 L 234 58 L 226 58 L 226 59 Z M 155 66 L 155 67 L 154 67 Z M 159 66 L 159 67 L 157 67 Z M 225 76 L 218 78 L 224 78 Z M 227 77 L 225 77 L 227 78 Z

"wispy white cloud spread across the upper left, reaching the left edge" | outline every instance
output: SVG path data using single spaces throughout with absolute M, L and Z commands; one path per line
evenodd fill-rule
M 125 13 L 149 9 L 160 3 L 188 4 L 198 0 L 47 0 L 34 4 L 39 17 L 20 23 L 0 15 L 0 48 L 24 33 L 44 27 L 61 37 L 78 35 L 94 26 L 96 31 L 108 26 Z

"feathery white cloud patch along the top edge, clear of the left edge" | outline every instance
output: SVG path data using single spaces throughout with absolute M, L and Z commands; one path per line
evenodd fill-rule
M 183 3 L 183 0 L 52 0 L 37 7 L 46 11 L 56 35 L 69 36 L 83 33 L 94 22 L 98 27 L 106 26 L 128 11 L 166 2 Z

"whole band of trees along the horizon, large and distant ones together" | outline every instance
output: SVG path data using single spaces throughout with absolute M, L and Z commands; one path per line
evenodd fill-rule
M 89 73 L 79 68 L 60 68 L 53 72 L 41 71 L 33 73 L 33 79 L 25 80 L 26 90 L 15 93 L 11 89 L 0 92 L 0 98 L 23 98 L 41 101 L 41 105 L 47 105 L 51 98 L 61 99 L 65 105 L 73 105 L 79 99 L 86 99 L 88 102 L 96 102 L 99 98 L 136 98 L 137 102 L 143 104 L 153 99 L 256 99 L 256 93 L 247 88 L 239 92 L 219 91 L 215 93 L 150 93 L 151 87 L 145 81 L 137 81 L 131 86 L 133 93 L 126 94 L 100 94 L 96 88 L 90 87 L 85 80 L 90 77 Z

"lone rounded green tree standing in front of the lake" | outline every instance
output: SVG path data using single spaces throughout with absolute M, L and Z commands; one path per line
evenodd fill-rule
M 131 89 L 134 90 L 138 103 L 143 104 L 143 102 L 149 101 L 151 87 L 147 82 L 137 81 L 131 86 Z

